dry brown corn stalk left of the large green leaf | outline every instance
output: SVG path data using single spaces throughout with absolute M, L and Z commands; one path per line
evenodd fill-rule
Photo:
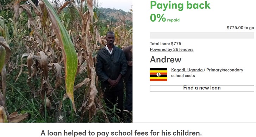
M 19 76 L 23 72 L 23 57 L 27 57 L 27 67 L 28 67 L 28 74 L 29 78 L 27 79 L 27 83 L 29 84 L 32 94 L 34 97 L 37 95 L 40 95 L 42 98 L 42 105 L 41 105 L 41 112 L 44 108 L 43 104 L 46 104 L 47 101 L 49 101 L 48 97 L 51 95 L 52 91 L 54 90 L 51 87 L 50 81 L 49 81 L 49 75 L 48 75 L 48 55 L 52 57 L 52 49 L 49 48 L 50 40 L 52 39 L 51 37 L 44 35 L 43 33 L 40 33 L 40 29 L 42 26 L 40 23 L 40 19 L 43 18 L 43 14 L 38 9 L 31 0 L 29 2 L 31 3 L 31 6 L 33 7 L 35 13 L 38 15 L 36 19 L 33 18 L 32 12 L 30 9 L 30 5 L 23 4 L 20 5 L 20 1 L 18 0 L 14 4 L 14 11 L 15 11 L 15 20 L 18 19 L 19 15 L 23 10 L 27 12 L 28 15 L 28 22 L 29 22 L 29 28 L 31 27 L 32 31 L 30 32 L 30 36 L 25 36 L 23 39 L 25 40 L 26 47 L 27 47 L 27 52 L 26 54 L 23 54 L 21 57 L 21 69 L 18 74 L 18 77 L 16 78 L 15 82 L 18 80 Z M 48 34 L 50 32 L 49 29 L 45 30 L 46 33 Z M 45 40 L 46 39 L 46 40 Z M 28 42 L 30 44 L 28 44 Z M 51 61 L 51 60 L 50 60 Z M 35 87 L 33 83 L 31 82 L 32 77 L 35 77 L 40 71 L 41 75 L 41 88 L 40 90 L 36 93 L 35 92 Z M 32 74 L 31 74 L 32 73 Z M 46 98 L 45 98 L 46 97 Z M 49 103 L 48 103 L 49 104 Z M 49 105 L 47 105 L 50 107 Z

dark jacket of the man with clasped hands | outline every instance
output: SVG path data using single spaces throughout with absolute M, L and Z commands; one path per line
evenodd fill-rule
M 127 62 L 123 50 L 114 46 L 112 54 L 104 47 L 98 51 L 96 73 L 103 87 L 108 87 L 110 83 L 107 79 L 116 80 L 118 75 L 124 76 L 127 71 Z M 119 81 L 117 89 L 123 88 L 123 80 Z

